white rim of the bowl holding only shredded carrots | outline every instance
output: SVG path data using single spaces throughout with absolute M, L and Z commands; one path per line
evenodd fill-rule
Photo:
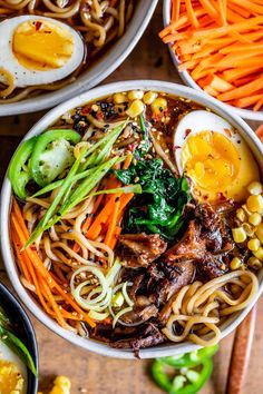
M 164 26 L 165 27 L 168 26 L 169 22 L 171 22 L 171 0 L 164 0 L 164 3 L 163 3 L 163 19 L 164 19 Z M 191 88 L 194 88 L 194 89 L 197 89 L 199 91 L 203 91 L 205 95 L 210 96 L 208 93 L 206 93 L 194 81 L 194 79 L 191 77 L 188 71 L 186 71 L 186 70 L 179 71 L 178 70 L 178 66 L 179 66 L 178 57 L 172 50 L 172 46 L 171 45 L 168 45 L 168 48 L 169 48 L 169 53 L 171 53 L 171 57 L 173 59 L 173 62 L 174 62 L 174 65 L 175 65 L 175 67 L 176 67 L 176 69 L 178 71 L 179 77 L 183 79 L 185 85 L 189 86 Z M 250 109 L 242 109 L 242 108 L 237 108 L 237 107 L 234 107 L 234 106 L 230 106 L 228 104 L 226 104 L 225 106 L 227 106 L 230 110 L 232 110 L 233 112 L 235 112 L 236 115 L 238 115 L 240 117 L 242 117 L 244 119 L 263 121 L 263 111 L 253 111 L 253 110 L 250 110 Z

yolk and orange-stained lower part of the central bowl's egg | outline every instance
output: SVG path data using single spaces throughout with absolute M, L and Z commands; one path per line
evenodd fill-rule
M 194 185 L 198 199 L 243 200 L 246 186 L 260 179 L 257 165 L 243 140 L 234 144 L 220 132 L 202 131 L 189 136 L 182 149 L 182 167 Z

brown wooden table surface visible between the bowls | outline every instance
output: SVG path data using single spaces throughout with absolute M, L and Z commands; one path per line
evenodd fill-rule
M 182 83 L 157 32 L 162 29 L 162 2 L 129 58 L 105 82 L 127 79 L 159 79 Z M 45 112 L 3 118 L 0 120 L 0 176 L 6 171 L 11 154 L 22 135 Z M 256 125 L 252 125 L 255 127 Z M 1 265 L 1 262 L 0 262 Z M 0 280 L 8 283 L 0 267 Z M 10 285 L 10 284 L 9 284 Z M 85 352 L 61 339 L 32 317 L 40 352 L 40 390 L 47 393 L 56 375 L 67 375 L 72 394 L 158 394 L 149 378 L 148 361 L 118 361 Z M 263 393 L 263 302 L 259 303 L 255 337 L 244 394 Z M 226 382 L 233 335 L 223 339 L 214 358 L 214 373 L 202 394 L 223 394 Z

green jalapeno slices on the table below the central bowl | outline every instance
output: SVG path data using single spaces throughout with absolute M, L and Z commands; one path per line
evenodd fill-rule
M 212 356 L 218 346 L 211 346 L 179 356 L 154 361 L 152 375 L 159 387 L 169 394 L 196 394 L 213 371 Z

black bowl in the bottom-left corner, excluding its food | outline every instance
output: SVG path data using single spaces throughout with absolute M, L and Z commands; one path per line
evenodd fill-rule
M 26 314 L 22 305 L 17 298 L 9 292 L 9 289 L 0 283 L 0 306 L 8 314 L 14 334 L 27 346 L 35 365 L 38 371 L 38 345 L 33 331 L 33 326 Z M 38 393 L 38 378 L 28 370 L 27 376 L 27 393 Z

